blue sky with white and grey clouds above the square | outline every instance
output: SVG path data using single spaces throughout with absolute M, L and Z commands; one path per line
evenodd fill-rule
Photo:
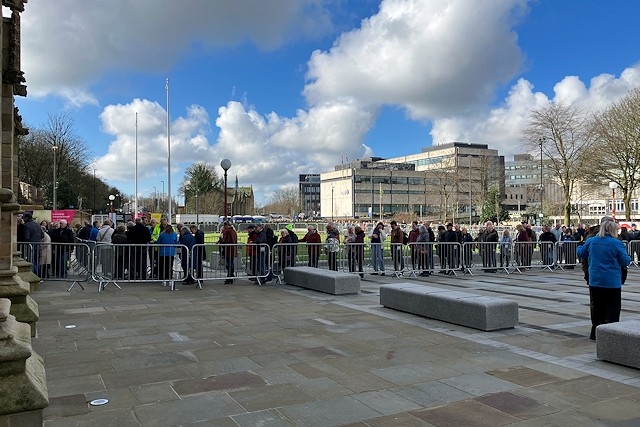
M 253 186 L 262 206 L 299 174 L 372 155 L 461 141 L 509 160 L 531 109 L 598 111 L 640 86 L 636 0 L 29 0 L 25 9 L 23 123 L 67 114 L 97 176 L 131 195 L 136 140 L 140 196 L 168 191 L 170 139 L 176 199 L 187 167 L 207 162 L 222 175 L 228 158 L 230 185 Z

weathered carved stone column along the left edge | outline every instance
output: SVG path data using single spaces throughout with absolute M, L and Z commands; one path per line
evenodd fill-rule
M 14 264 L 18 190 L 16 136 L 24 132 L 14 96 L 26 96 L 20 71 L 20 12 L 26 0 L 2 0 L 11 9 L 0 23 L 0 426 L 42 425 L 48 402 L 42 358 L 31 348 L 38 306 Z

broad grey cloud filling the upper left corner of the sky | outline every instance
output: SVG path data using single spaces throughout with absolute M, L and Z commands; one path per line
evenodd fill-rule
M 31 0 L 22 68 L 31 96 L 95 104 L 90 88 L 109 71 L 163 71 L 194 51 L 243 42 L 271 50 L 331 27 L 316 0 Z

